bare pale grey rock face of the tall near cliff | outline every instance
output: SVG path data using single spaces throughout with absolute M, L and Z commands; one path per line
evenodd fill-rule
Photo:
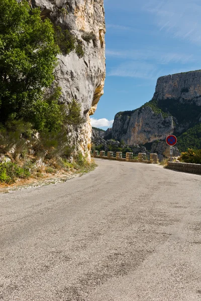
M 69 128 L 67 133 L 75 150 L 90 157 L 91 125 L 89 115 L 96 109 L 103 95 L 105 82 L 105 12 L 104 0 L 32 0 L 40 7 L 41 17 L 49 18 L 55 26 L 69 30 L 79 39 L 84 52 L 59 55 L 55 79 L 62 88 L 61 101 L 75 99 L 81 104 L 84 123 Z M 92 34 L 92 39 L 83 39 Z

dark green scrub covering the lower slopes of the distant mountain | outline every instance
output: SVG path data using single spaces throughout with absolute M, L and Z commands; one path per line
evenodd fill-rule
M 115 120 L 118 121 L 117 124 L 119 127 L 114 129 L 115 135 L 120 140 L 122 135 L 126 134 L 128 131 L 131 115 L 136 111 L 141 113 L 142 108 L 148 106 L 154 113 L 162 114 L 163 118 L 167 118 L 168 116 L 173 117 L 174 134 L 178 138 L 177 147 L 180 152 L 185 152 L 189 147 L 195 149 L 201 148 L 201 123 L 199 121 L 201 116 L 201 106 L 197 105 L 196 103 L 198 96 L 195 96 L 195 99 L 192 101 L 182 98 L 182 93 L 188 92 L 189 88 L 185 87 L 180 91 L 181 98 L 153 98 L 149 102 L 146 102 L 144 105 L 142 105 L 139 109 L 117 113 Z M 146 120 L 143 121 L 146 122 Z M 165 130 L 165 119 L 161 125 Z M 148 132 L 148 129 L 146 131 Z M 145 143 L 144 145 L 148 147 L 148 149 L 151 149 L 152 142 Z

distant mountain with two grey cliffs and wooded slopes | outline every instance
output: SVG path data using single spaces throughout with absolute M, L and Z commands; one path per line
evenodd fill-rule
M 119 112 L 111 129 L 112 138 L 145 144 L 179 136 L 201 122 L 201 71 L 162 76 L 151 101 L 139 109 Z

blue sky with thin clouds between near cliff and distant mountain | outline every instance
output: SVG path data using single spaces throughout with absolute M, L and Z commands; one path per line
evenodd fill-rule
M 200 0 L 105 0 L 105 12 L 105 89 L 91 116 L 103 129 L 151 100 L 159 76 L 201 69 Z

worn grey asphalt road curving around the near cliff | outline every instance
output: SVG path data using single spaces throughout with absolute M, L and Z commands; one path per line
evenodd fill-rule
M 201 300 L 201 176 L 96 160 L 0 195 L 0 300 Z

